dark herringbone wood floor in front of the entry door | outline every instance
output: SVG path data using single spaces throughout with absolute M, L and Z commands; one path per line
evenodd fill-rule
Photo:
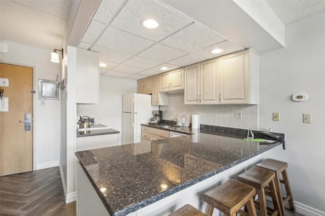
M 76 215 L 65 204 L 58 167 L 0 177 L 0 215 Z

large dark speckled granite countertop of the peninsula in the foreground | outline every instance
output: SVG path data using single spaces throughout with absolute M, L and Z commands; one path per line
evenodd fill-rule
M 243 138 L 243 134 L 199 129 L 196 135 L 80 151 L 76 155 L 108 212 L 123 216 L 281 145 Z M 195 163 L 208 166 L 197 167 Z M 101 188 L 108 190 L 101 192 Z

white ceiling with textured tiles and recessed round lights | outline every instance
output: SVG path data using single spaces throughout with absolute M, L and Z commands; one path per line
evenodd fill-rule
M 325 0 L 266 2 L 284 24 L 325 11 Z M 59 49 L 69 5 L 70 0 L 0 0 L 0 38 Z M 157 19 L 159 27 L 144 28 L 147 17 Z M 107 64 L 101 74 L 135 80 L 164 72 L 162 66 L 172 70 L 248 48 L 154 0 L 103 0 L 79 47 L 100 53 Z M 225 51 L 211 54 L 214 48 Z

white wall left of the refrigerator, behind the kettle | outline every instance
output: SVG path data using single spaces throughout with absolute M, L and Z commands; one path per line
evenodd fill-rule
M 118 144 L 121 144 L 122 133 L 122 96 L 137 93 L 138 82 L 111 76 L 100 76 L 100 99 L 98 104 L 77 105 L 77 114 L 95 118 L 95 122 L 110 126 L 120 132 Z

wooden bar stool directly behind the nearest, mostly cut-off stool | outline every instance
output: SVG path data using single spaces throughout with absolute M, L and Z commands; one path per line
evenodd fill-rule
M 205 214 L 211 216 L 213 209 L 217 208 L 230 216 L 236 216 L 237 213 L 245 216 L 256 216 L 253 200 L 255 193 L 255 188 L 230 179 L 203 195 L 203 200 L 207 202 Z M 241 209 L 244 205 L 246 205 L 248 212 Z

